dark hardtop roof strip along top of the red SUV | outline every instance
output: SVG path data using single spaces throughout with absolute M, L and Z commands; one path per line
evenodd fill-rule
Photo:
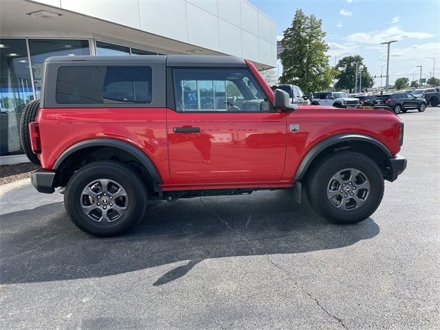
M 166 62 L 168 67 L 245 67 L 243 58 L 228 55 L 87 55 L 52 56 L 47 63 L 59 62 Z

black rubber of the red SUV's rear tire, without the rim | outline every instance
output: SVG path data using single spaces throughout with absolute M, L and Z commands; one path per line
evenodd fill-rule
M 83 212 L 80 196 L 91 181 L 111 179 L 124 188 L 128 197 L 128 210 L 114 223 L 102 225 Z M 146 208 L 147 192 L 140 177 L 128 166 L 111 162 L 91 163 L 72 176 L 65 192 L 65 207 L 72 221 L 95 236 L 115 236 L 133 228 L 142 219 Z

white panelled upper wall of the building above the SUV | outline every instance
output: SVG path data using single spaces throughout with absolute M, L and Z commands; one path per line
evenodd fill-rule
M 34 2 L 276 66 L 276 23 L 247 0 Z

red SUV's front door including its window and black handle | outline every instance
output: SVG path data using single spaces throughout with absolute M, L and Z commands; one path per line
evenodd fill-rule
M 173 184 L 277 182 L 285 164 L 286 116 L 272 110 L 245 68 L 173 68 L 168 159 Z

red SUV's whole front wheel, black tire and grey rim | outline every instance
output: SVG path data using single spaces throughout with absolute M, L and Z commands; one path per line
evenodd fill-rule
M 360 173 L 355 179 L 347 180 L 349 174 L 355 174 L 355 170 Z M 340 173 L 341 181 L 347 186 L 335 186 L 333 177 L 337 173 Z M 330 195 L 334 195 L 332 199 L 329 197 L 330 191 Z M 384 178 L 371 158 L 353 151 L 340 151 L 323 157 L 313 168 L 307 179 L 306 192 L 309 203 L 321 217 L 333 223 L 358 223 L 370 217 L 380 205 L 384 196 Z M 337 202 L 340 204 L 337 205 Z

